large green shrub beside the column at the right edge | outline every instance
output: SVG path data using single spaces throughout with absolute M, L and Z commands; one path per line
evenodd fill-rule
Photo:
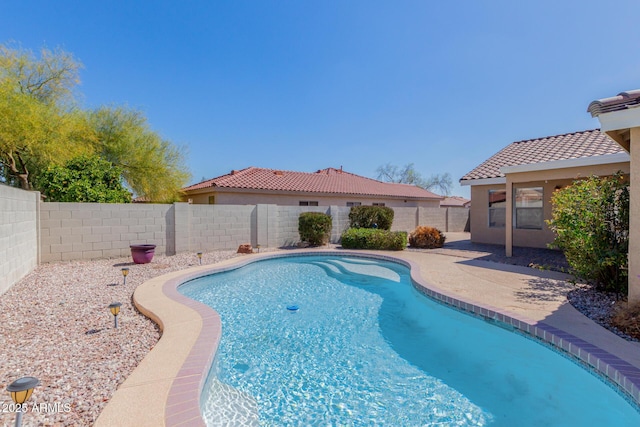
M 574 181 L 557 190 L 550 245 L 564 252 L 574 274 L 598 288 L 627 293 L 629 187 L 624 175 Z

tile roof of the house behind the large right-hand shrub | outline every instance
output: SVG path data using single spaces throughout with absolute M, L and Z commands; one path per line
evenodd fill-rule
M 491 156 L 460 181 L 500 178 L 504 166 L 622 153 L 624 149 L 599 129 L 517 141 Z

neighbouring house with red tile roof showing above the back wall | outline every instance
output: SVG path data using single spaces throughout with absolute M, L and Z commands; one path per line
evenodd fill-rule
M 381 182 L 342 168 L 294 172 L 248 167 L 182 189 L 196 204 L 434 207 L 444 198 L 408 184 Z

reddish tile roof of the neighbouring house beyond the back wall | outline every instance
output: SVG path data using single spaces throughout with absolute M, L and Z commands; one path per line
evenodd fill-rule
M 210 187 L 421 199 L 442 198 L 415 185 L 376 181 L 335 168 L 309 173 L 252 166 L 242 170 L 233 170 L 226 175 L 191 185 L 182 190 L 189 192 Z

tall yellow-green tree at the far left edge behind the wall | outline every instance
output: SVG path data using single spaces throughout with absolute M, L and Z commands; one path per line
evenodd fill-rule
M 69 54 L 0 45 L 0 180 L 31 188 L 32 174 L 82 151 L 70 102 L 80 64 Z

